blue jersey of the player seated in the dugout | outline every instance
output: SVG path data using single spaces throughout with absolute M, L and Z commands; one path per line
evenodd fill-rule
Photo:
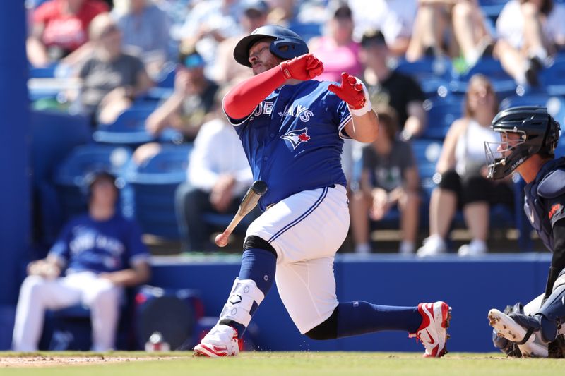
M 57 257 L 73 272 L 115 272 L 149 255 L 139 226 L 120 214 L 106 221 L 88 214 L 74 217 L 49 250 L 49 257 Z

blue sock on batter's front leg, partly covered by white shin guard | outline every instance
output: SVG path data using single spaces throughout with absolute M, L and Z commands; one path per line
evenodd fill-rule
M 270 253 L 268 250 L 260 248 L 251 248 L 245 250 L 242 255 L 242 266 L 239 269 L 239 279 L 251 279 L 255 281 L 257 287 L 261 292 L 267 296 L 273 281 L 275 281 L 275 270 L 277 268 L 277 257 Z M 257 310 L 257 303 L 251 306 L 251 316 Z M 246 330 L 246 327 L 239 322 L 225 322 L 237 329 L 237 334 L 241 338 Z

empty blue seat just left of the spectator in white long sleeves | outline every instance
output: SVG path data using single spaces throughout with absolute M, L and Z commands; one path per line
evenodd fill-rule
M 178 239 L 174 193 L 186 181 L 192 145 L 162 145 L 141 165 L 131 164 L 125 179 L 133 190 L 133 212 L 145 234 Z

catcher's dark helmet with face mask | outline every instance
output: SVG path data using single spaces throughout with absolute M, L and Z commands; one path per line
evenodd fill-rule
M 559 140 L 559 123 L 545 107 L 505 109 L 494 117 L 491 128 L 505 135 L 517 133 L 520 139 L 513 145 L 506 142 L 507 138 L 504 142 L 484 142 L 489 178 L 504 178 L 533 154 L 554 155 Z

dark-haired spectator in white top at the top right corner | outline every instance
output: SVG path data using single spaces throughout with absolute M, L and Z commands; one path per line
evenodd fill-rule
M 516 83 L 537 86 L 537 73 L 565 44 L 565 6 L 552 0 L 510 0 L 496 20 L 495 56 Z

